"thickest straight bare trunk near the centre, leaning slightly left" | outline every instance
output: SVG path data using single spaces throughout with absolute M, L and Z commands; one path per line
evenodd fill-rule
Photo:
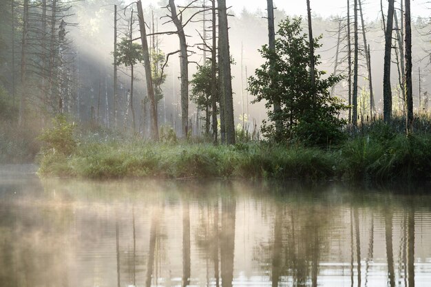
M 229 26 L 227 23 L 226 0 L 218 1 L 218 25 L 220 26 L 220 45 L 218 47 L 221 54 L 220 70 L 222 70 L 223 85 L 221 89 L 224 95 L 224 125 L 226 128 L 226 143 L 235 144 L 235 121 L 233 117 L 233 96 L 231 78 L 231 54 L 229 52 Z

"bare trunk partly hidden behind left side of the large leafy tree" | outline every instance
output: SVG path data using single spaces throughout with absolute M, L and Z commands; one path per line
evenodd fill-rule
M 309 0 L 308 0 L 309 2 Z M 274 6 L 273 0 L 266 0 L 267 10 L 268 10 L 268 39 L 269 39 L 269 50 L 275 52 L 275 24 L 274 24 Z M 273 61 L 269 63 L 271 69 L 274 67 Z M 242 81 L 242 80 L 241 80 Z M 271 83 L 272 85 L 272 83 Z M 275 115 L 275 138 L 277 141 L 282 140 L 282 129 L 283 124 L 280 119 L 280 113 L 282 112 L 282 106 L 280 103 L 280 98 L 275 96 L 273 98 L 274 102 L 274 115 Z M 244 117 L 244 113 L 242 115 Z

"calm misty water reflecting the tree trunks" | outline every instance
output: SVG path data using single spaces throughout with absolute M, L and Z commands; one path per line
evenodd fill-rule
M 431 193 L 1 167 L 0 286 L 431 286 Z

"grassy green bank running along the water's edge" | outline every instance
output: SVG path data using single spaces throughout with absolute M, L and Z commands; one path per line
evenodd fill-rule
M 234 146 L 81 142 L 67 156 L 46 150 L 39 159 L 39 174 L 92 179 L 427 179 L 431 176 L 431 135 L 370 134 L 326 149 L 266 142 Z

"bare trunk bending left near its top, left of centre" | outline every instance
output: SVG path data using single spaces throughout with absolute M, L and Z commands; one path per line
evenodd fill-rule
M 189 129 L 189 56 L 187 54 L 187 41 L 181 19 L 178 19 L 174 0 L 169 0 L 171 17 L 174 22 L 178 38 L 180 39 L 180 75 L 181 75 L 181 131 L 182 137 L 187 138 Z

